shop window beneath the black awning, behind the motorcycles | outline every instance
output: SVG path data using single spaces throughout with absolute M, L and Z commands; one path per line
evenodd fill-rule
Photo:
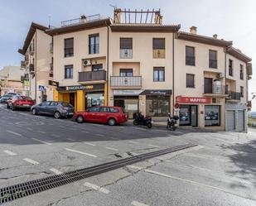
M 152 117 L 167 117 L 170 112 L 169 96 L 147 96 L 147 115 Z

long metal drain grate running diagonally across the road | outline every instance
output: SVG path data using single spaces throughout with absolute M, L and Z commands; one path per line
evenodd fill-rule
M 94 165 L 85 169 L 66 172 L 62 175 L 52 175 L 46 178 L 32 180 L 22 184 L 16 184 L 0 189 L 0 204 L 7 203 L 14 199 L 20 199 L 31 194 L 40 193 L 47 189 L 53 189 L 64 184 L 88 178 L 90 176 L 99 175 L 109 170 L 115 170 L 125 165 L 147 160 L 152 157 L 162 156 L 174 151 L 181 151 L 186 148 L 197 146 L 196 144 L 186 144 L 181 146 L 173 146 L 160 151 L 152 151 L 146 154 L 128 157 L 122 160 L 114 160 L 100 165 Z

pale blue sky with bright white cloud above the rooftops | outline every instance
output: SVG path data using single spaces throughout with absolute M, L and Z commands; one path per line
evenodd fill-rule
M 249 97 L 256 93 L 256 1 L 255 0 L 1 0 L 0 1 L 0 69 L 20 65 L 21 48 L 31 22 L 60 26 L 61 21 L 99 13 L 113 17 L 113 7 L 161 9 L 163 23 L 181 24 L 182 31 L 197 26 L 197 33 L 218 34 L 233 41 L 234 47 L 253 59 L 253 79 Z M 253 100 L 256 111 L 256 99 Z

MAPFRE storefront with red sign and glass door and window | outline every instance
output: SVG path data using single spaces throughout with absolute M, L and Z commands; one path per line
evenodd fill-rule
M 222 110 L 225 98 L 214 98 L 213 101 L 212 98 L 179 96 L 176 97 L 176 103 L 180 104 L 180 108 L 177 110 L 180 126 L 220 127 L 220 129 L 224 127 L 221 119 L 224 115 Z

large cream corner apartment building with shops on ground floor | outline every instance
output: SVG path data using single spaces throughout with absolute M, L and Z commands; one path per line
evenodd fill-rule
M 198 35 L 195 26 L 186 33 L 162 24 L 160 11 L 133 12 L 135 22 L 128 13 L 82 16 L 46 31 L 54 42 L 53 98 L 77 111 L 114 105 L 130 118 L 172 113 L 180 126 L 244 131 L 249 57 L 232 41 Z

